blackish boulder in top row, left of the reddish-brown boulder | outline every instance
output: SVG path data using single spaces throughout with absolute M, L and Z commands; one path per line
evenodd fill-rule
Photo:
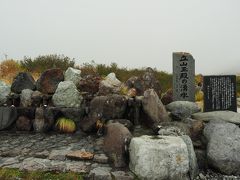
M 14 93 L 20 94 L 24 89 L 34 90 L 36 88 L 35 81 L 31 74 L 26 72 L 20 72 L 13 79 L 11 90 Z

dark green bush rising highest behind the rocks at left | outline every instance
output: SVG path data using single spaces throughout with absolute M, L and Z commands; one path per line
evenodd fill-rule
M 75 60 L 64 55 L 50 54 L 38 56 L 34 59 L 24 57 L 24 59 L 20 61 L 20 64 L 26 71 L 42 73 L 51 68 L 60 68 L 65 71 L 68 67 L 74 67 Z

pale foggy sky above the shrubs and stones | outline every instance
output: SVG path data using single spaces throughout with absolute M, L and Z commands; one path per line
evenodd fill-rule
M 0 59 L 64 54 L 172 72 L 172 52 L 196 72 L 240 72 L 239 0 L 0 0 Z

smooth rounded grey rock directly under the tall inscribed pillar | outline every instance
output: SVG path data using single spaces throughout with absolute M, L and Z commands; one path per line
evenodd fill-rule
M 201 111 L 196 103 L 189 101 L 174 101 L 168 104 L 166 109 L 171 112 L 173 119 L 176 120 L 191 117 L 192 114 Z

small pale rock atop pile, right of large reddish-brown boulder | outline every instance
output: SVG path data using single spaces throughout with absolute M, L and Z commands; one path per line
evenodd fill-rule
M 78 85 L 81 79 L 82 79 L 81 70 L 79 69 L 74 69 L 72 67 L 69 67 L 64 74 L 64 80 L 72 81 L 76 86 Z

